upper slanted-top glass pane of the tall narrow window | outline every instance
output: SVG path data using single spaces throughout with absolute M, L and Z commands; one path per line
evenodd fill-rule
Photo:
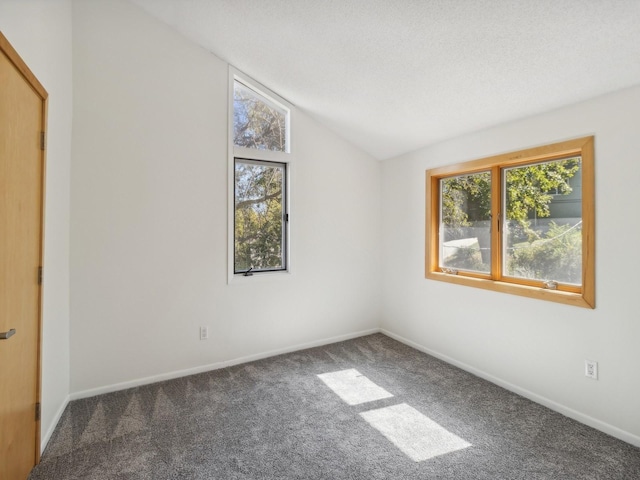
M 240 82 L 233 86 L 233 143 L 238 147 L 286 152 L 288 111 Z

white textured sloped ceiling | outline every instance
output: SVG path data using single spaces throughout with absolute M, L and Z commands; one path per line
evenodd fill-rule
M 640 84 L 640 0 L 132 0 L 375 158 Z

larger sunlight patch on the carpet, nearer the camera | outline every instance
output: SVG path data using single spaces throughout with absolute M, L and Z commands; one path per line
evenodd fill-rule
M 406 403 L 360 415 L 416 462 L 471 446 Z

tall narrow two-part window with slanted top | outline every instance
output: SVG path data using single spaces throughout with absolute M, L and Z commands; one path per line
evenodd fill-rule
M 230 80 L 230 279 L 288 271 L 290 108 L 244 77 Z

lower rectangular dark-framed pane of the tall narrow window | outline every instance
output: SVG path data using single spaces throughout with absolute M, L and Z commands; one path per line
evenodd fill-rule
M 284 270 L 286 166 L 235 161 L 234 273 Z

